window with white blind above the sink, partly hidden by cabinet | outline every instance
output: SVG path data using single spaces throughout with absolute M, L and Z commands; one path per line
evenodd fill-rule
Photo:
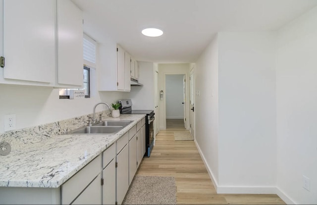
M 96 47 L 97 43 L 84 34 L 83 40 L 83 58 L 84 58 L 84 77 L 82 89 L 59 89 L 59 99 L 69 99 L 71 90 L 84 90 L 85 98 L 90 98 L 90 85 L 91 85 L 91 68 L 96 68 Z

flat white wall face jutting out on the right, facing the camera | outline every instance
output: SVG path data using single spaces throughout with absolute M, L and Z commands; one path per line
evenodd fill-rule
M 275 33 L 219 33 L 219 186 L 275 187 Z

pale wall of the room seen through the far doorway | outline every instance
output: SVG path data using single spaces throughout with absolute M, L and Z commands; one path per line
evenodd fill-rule
M 184 75 L 166 75 L 166 119 L 184 118 Z

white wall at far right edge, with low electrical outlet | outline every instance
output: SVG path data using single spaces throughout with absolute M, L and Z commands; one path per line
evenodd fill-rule
M 317 204 L 317 7 L 278 32 L 277 188 L 288 203 Z M 311 180 L 310 192 L 302 176 Z

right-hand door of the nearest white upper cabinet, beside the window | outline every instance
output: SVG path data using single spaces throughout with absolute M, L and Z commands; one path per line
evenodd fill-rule
M 57 0 L 57 83 L 83 86 L 83 17 L 70 0 Z

